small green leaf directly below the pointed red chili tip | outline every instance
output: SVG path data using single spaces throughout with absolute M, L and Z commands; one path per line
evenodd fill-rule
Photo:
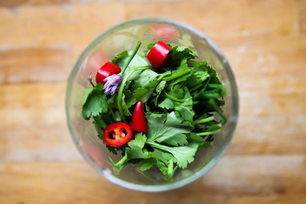
M 150 158 L 150 152 L 147 149 L 143 149 L 146 141 L 145 135 L 142 133 L 138 133 L 135 135 L 135 139 L 131 140 L 127 145 L 129 147 L 125 148 L 125 152 L 127 154 L 127 158 L 129 159 L 148 159 Z

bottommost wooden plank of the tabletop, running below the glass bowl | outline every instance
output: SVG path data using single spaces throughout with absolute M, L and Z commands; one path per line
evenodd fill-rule
M 118 187 L 93 172 L 83 161 L 5 163 L 0 165 L 4 172 L 0 174 L 0 184 L 6 184 L 6 188 L 0 188 L 0 202 L 304 203 L 305 159 L 304 156 L 224 157 L 193 184 L 162 193 Z

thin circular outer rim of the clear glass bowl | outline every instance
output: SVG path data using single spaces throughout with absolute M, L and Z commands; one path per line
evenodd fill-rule
M 205 40 L 207 44 L 216 52 L 216 55 L 220 62 L 223 63 L 226 75 L 228 79 L 230 80 L 231 84 L 231 91 L 232 91 L 232 99 L 233 99 L 233 115 L 232 118 L 234 120 L 229 120 L 228 122 L 231 122 L 229 125 L 230 131 L 228 135 L 225 137 L 225 141 L 223 142 L 223 145 L 220 147 L 220 151 L 214 156 L 211 161 L 209 161 L 204 167 L 199 169 L 198 171 L 194 172 L 193 174 L 189 175 L 188 177 L 170 183 L 170 184 L 162 184 L 162 185 L 141 185 L 141 184 L 134 184 L 130 182 L 123 181 L 121 179 L 118 179 L 117 177 L 113 176 L 110 172 L 108 172 L 106 169 L 101 169 L 86 153 L 86 151 L 83 149 L 83 147 L 80 145 L 79 141 L 77 140 L 77 137 L 75 136 L 75 133 L 73 131 L 73 128 L 70 123 L 70 112 L 69 112 L 69 101 L 70 101 L 70 90 L 72 87 L 72 82 L 73 80 L 71 79 L 71 76 L 75 75 L 75 72 L 77 72 L 78 67 L 80 67 L 81 63 L 83 62 L 83 59 L 85 59 L 88 51 L 91 49 L 92 46 L 97 44 L 101 38 L 104 38 L 105 36 L 111 34 L 114 30 L 121 28 L 124 25 L 129 25 L 129 24 L 137 24 L 137 23 L 143 23 L 143 24 L 148 24 L 148 23 L 167 23 L 167 24 L 173 24 L 176 25 L 177 27 L 182 27 L 189 32 L 195 34 L 197 37 L 201 38 L 202 40 Z M 99 174 L 103 175 L 107 180 L 110 182 L 117 184 L 119 186 L 122 186 L 124 188 L 132 189 L 132 190 L 137 190 L 137 191 L 144 191 L 144 192 L 160 192 L 160 191 L 167 191 L 167 190 L 172 190 L 176 188 L 183 187 L 187 184 L 190 184 L 191 182 L 194 182 L 195 180 L 199 179 L 202 175 L 206 174 L 209 170 L 211 170 L 217 162 L 221 159 L 221 157 L 224 155 L 226 149 L 228 148 L 228 145 L 230 145 L 231 140 L 233 138 L 236 125 L 238 122 L 238 110 L 239 110 L 239 101 L 238 101 L 238 91 L 237 91 L 237 85 L 236 81 L 234 78 L 234 74 L 232 72 L 230 64 L 228 64 L 226 58 L 224 57 L 223 53 L 221 52 L 220 48 L 205 34 L 203 34 L 201 31 L 191 27 L 190 25 L 169 19 L 169 18 L 160 18 L 160 17 L 146 17 L 146 18 L 137 18 L 137 19 L 132 19 L 132 20 L 127 20 L 122 23 L 119 23 L 115 25 L 114 27 L 111 27 L 110 29 L 102 32 L 99 34 L 93 41 L 91 41 L 87 47 L 83 50 L 82 54 L 79 56 L 77 62 L 73 66 L 72 71 L 69 74 L 68 78 L 68 85 L 66 88 L 66 98 L 65 98 L 65 109 L 66 109 L 66 117 L 67 117 L 67 125 L 68 129 L 70 132 L 70 135 L 72 137 L 72 140 L 77 146 L 78 150 L 80 151 L 81 155 L 83 158 L 87 161 L 87 163 L 90 164 Z

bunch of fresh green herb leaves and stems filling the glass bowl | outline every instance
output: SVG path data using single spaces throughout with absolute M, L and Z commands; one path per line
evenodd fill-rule
M 171 177 L 177 168 L 187 168 L 196 152 L 210 147 L 213 136 L 221 132 L 226 117 L 220 106 L 224 106 L 226 92 L 216 71 L 206 61 L 196 61 L 197 55 L 187 47 L 172 47 L 162 71 L 157 71 L 146 60 L 153 45 L 148 44 L 144 53 L 133 58 L 114 95 L 106 96 L 101 84 L 86 89 L 82 115 L 86 120 L 93 119 L 102 139 L 107 125 L 119 121 L 131 123 L 134 105 L 142 100 L 148 131 L 136 132 L 124 147 L 106 144 L 113 154 L 122 150 L 120 161 L 114 163 L 111 158 L 110 161 L 119 170 L 135 163 L 140 163 L 139 171 L 156 165 Z M 122 67 L 130 54 L 124 51 L 112 62 Z

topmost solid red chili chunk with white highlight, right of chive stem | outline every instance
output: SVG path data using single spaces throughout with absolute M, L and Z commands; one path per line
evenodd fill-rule
M 163 41 L 156 43 L 147 55 L 147 60 L 151 65 L 159 69 L 163 63 L 166 61 L 170 47 Z

